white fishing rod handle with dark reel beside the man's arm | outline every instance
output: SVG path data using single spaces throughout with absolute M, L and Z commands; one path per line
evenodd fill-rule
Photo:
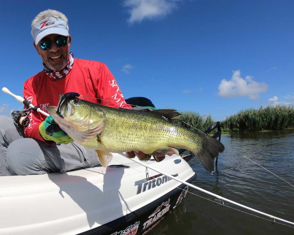
M 28 111 L 29 110 L 34 110 L 34 111 L 37 111 L 37 112 L 39 112 L 39 113 L 41 113 L 41 114 L 43 114 L 45 116 L 49 116 L 49 114 L 42 111 L 38 106 L 34 106 L 34 104 L 32 104 L 31 102 L 25 100 L 23 97 L 13 94 L 6 87 L 2 88 L 2 92 L 13 96 L 17 101 L 23 103 L 24 105 L 26 105 L 28 107 L 28 109 L 21 110 L 21 111 L 13 111 L 11 113 L 11 116 L 13 118 L 13 122 L 17 127 L 25 128 L 30 124 L 30 119 L 28 118 L 28 116 L 29 116 Z

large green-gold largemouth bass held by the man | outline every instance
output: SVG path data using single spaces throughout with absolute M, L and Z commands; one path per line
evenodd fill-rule
M 80 145 L 95 149 L 104 167 L 112 159 L 111 153 L 141 151 L 161 156 L 175 148 L 192 151 L 203 167 L 214 171 L 214 158 L 225 149 L 222 143 L 202 132 L 176 124 L 173 109 L 136 111 L 117 109 L 88 102 L 70 92 L 60 95 L 58 106 L 47 107 L 56 123 Z

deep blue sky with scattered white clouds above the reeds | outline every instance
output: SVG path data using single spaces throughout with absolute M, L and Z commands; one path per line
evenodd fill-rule
M 294 105 L 293 1 L 0 0 L 1 87 L 22 96 L 42 70 L 31 21 L 46 9 L 69 19 L 76 58 L 105 63 L 126 98 L 211 114 Z M 0 93 L 0 114 L 22 104 Z

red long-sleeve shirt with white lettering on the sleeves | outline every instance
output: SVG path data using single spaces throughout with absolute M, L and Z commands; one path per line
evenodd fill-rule
M 39 72 L 24 83 L 24 99 L 46 111 L 47 106 L 57 106 L 59 94 L 77 92 L 93 98 L 79 97 L 97 104 L 115 108 L 131 109 L 121 93 L 108 67 L 97 61 L 74 59 L 71 72 L 60 80 L 54 80 Z M 95 99 L 98 98 L 98 99 Z M 38 112 L 29 115 L 30 124 L 24 130 L 26 137 L 44 141 L 39 133 L 39 125 L 46 116 Z M 47 142 L 47 141 L 46 141 Z M 50 143 L 49 143 L 50 144 Z

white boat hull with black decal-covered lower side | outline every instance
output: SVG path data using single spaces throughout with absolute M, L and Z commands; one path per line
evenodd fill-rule
M 176 155 L 146 163 L 187 182 L 196 177 Z M 0 177 L 0 234 L 142 234 L 185 196 L 185 185 L 118 153 L 110 165 L 126 168 Z

